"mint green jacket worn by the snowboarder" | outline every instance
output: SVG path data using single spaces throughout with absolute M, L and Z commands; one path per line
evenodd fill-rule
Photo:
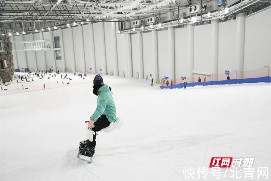
M 108 121 L 116 121 L 116 106 L 109 90 L 109 86 L 104 84 L 98 89 L 97 108 L 92 114 L 91 119 L 96 121 L 101 115 L 105 115 Z

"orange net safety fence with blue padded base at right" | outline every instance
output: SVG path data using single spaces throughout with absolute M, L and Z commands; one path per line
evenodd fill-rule
M 196 85 L 225 85 L 225 84 L 243 84 L 243 83 L 257 83 L 257 82 L 271 82 L 270 77 L 271 67 L 263 67 L 248 71 L 228 71 L 226 74 L 201 74 L 194 73 L 193 77 L 186 77 L 187 87 L 194 87 Z M 243 78 L 241 78 L 243 77 Z M 184 78 L 176 79 L 176 84 L 166 85 L 166 81 L 161 82 L 161 89 L 175 89 L 184 87 Z M 200 82 L 199 82 L 200 80 Z

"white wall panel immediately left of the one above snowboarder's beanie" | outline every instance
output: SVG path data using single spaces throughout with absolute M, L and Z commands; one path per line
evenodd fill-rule
M 84 35 L 86 71 L 96 73 L 93 26 L 91 23 L 83 26 L 83 35 Z

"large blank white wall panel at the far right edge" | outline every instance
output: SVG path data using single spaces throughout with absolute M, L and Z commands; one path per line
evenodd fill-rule
M 271 66 L 271 8 L 245 18 L 244 70 Z

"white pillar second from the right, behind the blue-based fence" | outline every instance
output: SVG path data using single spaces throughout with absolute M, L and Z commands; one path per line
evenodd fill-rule
M 212 20 L 213 30 L 213 81 L 218 81 L 218 20 Z

